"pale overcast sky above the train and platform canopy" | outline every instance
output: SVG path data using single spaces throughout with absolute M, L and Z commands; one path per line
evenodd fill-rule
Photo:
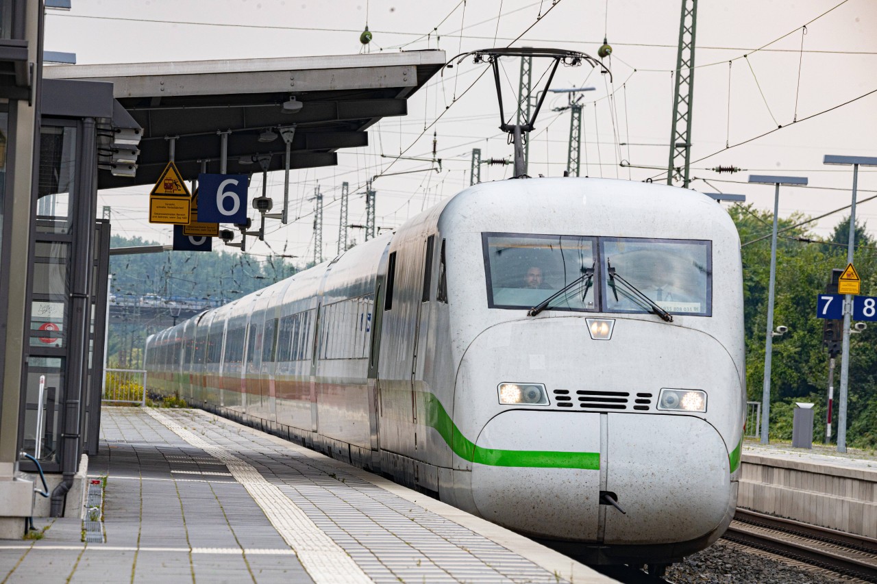
M 614 49 L 606 61 L 614 82 L 588 66 L 561 68 L 553 81 L 553 88 L 596 88 L 583 100 L 581 174 L 666 180 L 680 0 L 72 2 L 72 11 L 48 11 L 45 46 L 76 53 L 80 64 L 360 53 L 359 36 L 366 24 L 374 32 L 366 50 L 439 47 L 449 58 L 476 48 L 506 46 L 528 27 L 514 46 L 551 46 L 596 55 L 605 34 Z M 877 156 L 877 93 L 866 95 L 877 90 L 875 32 L 877 2 L 873 0 L 700 3 L 692 116 L 692 160 L 696 161 L 691 167 L 691 175 L 699 180 L 691 187 L 745 194 L 747 202 L 772 210 L 773 187 L 737 182 L 745 183 L 751 173 L 807 176 L 809 188 L 781 189 L 781 216 L 795 211 L 816 216 L 849 204 L 852 167 L 827 167 L 822 160 L 824 154 Z M 546 65 L 534 61 L 534 82 Z M 354 192 L 381 171 L 431 167 L 427 161 L 398 160 L 387 171 L 391 157 L 401 151 L 414 158 L 431 158 L 433 132 L 437 132 L 441 171 L 379 178 L 374 183 L 379 226 L 401 224 L 467 187 L 474 147 L 481 148 L 482 159 L 509 158 L 511 146 L 497 128 L 492 75 L 484 75 L 462 95 L 484 68 L 470 59 L 446 70 L 443 78 L 434 77 L 410 100 L 408 117 L 387 118 L 371 128 L 370 146 L 341 151 L 337 167 L 294 171 L 290 214 L 301 218 L 285 228 L 269 221 L 270 249 L 248 242 L 253 243 L 254 259 L 271 250 L 303 260 L 313 257 L 313 203 L 307 199 L 317 184 L 326 204 L 324 256 L 331 257 L 338 239 L 341 182 L 350 182 Z M 506 61 L 504 70 L 503 90 L 509 95 L 511 89 L 517 90 L 519 62 Z M 543 87 L 544 80 L 533 90 Z M 851 100 L 855 101 L 847 103 Z M 545 100 L 531 137 L 531 175 L 559 176 L 567 166 L 569 112 L 552 110 L 566 102 L 566 96 Z M 507 112 L 509 108 L 507 104 Z M 443 111 L 444 116 L 421 136 Z M 779 125 L 783 127 L 778 130 Z M 776 131 L 756 138 L 772 130 Z M 620 167 L 622 160 L 632 167 Z M 709 170 L 719 165 L 745 171 Z M 877 169 L 859 173 L 859 199 L 877 194 L 873 170 Z M 510 167 L 483 166 L 481 180 L 501 180 L 509 174 Z M 268 176 L 275 203 L 282 204 L 282 180 L 282 173 Z M 251 182 L 251 196 L 257 189 L 261 189 L 258 174 Z M 111 205 L 114 233 L 170 243 L 169 226 L 147 223 L 148 190 L 103 191 L 98 204 Z M 255 211 L 251 213 L 255 216 Z M 813 231 L 827 235 L 847 213 L 816 222 Z M 877 233 L 877 200 L 863 203 L 857 216 Z M 350 223 L 365 223 L 360 195 L 351 198 Z M 362 240 L 360 231 L 351 231 L 351 237 Z

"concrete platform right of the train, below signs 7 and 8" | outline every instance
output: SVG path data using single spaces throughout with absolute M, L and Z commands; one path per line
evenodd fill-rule
M 788 445 L 743 449 L 738 507 L 877 538 L 877 457 Z

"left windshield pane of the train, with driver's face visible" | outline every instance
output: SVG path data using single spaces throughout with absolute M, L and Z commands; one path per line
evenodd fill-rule
M 594 267 L 594 239 L 485 233 L 484 257 L 488 306 L 530 309 Z M 576 283 L 548 308 L 595 310 L 594 283 Z

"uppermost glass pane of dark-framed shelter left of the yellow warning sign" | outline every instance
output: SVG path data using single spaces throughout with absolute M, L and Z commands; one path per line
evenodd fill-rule
M 76 170 L 76 129 L 43 126 L 39 132 L 37 231 L 69 233 Z

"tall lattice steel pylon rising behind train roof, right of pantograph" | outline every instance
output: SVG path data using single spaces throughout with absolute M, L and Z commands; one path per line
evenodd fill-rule
M 672 185 L 674 182 L 681 181 L 685 189 L 688 188 L 688 164 L 691 160 L 691 108 L 695 95 L 696 32 L 697 0 L 682 0 L 667 184 Z

